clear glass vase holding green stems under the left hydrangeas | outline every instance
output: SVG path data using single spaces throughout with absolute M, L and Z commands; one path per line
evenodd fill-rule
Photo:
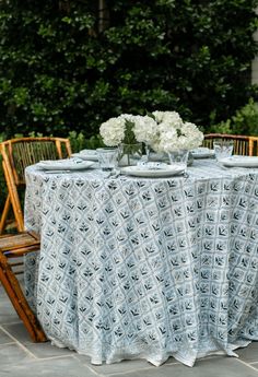
M 133 166 L 142 157 L 142 143 L 118 145 L 118 166 Z

